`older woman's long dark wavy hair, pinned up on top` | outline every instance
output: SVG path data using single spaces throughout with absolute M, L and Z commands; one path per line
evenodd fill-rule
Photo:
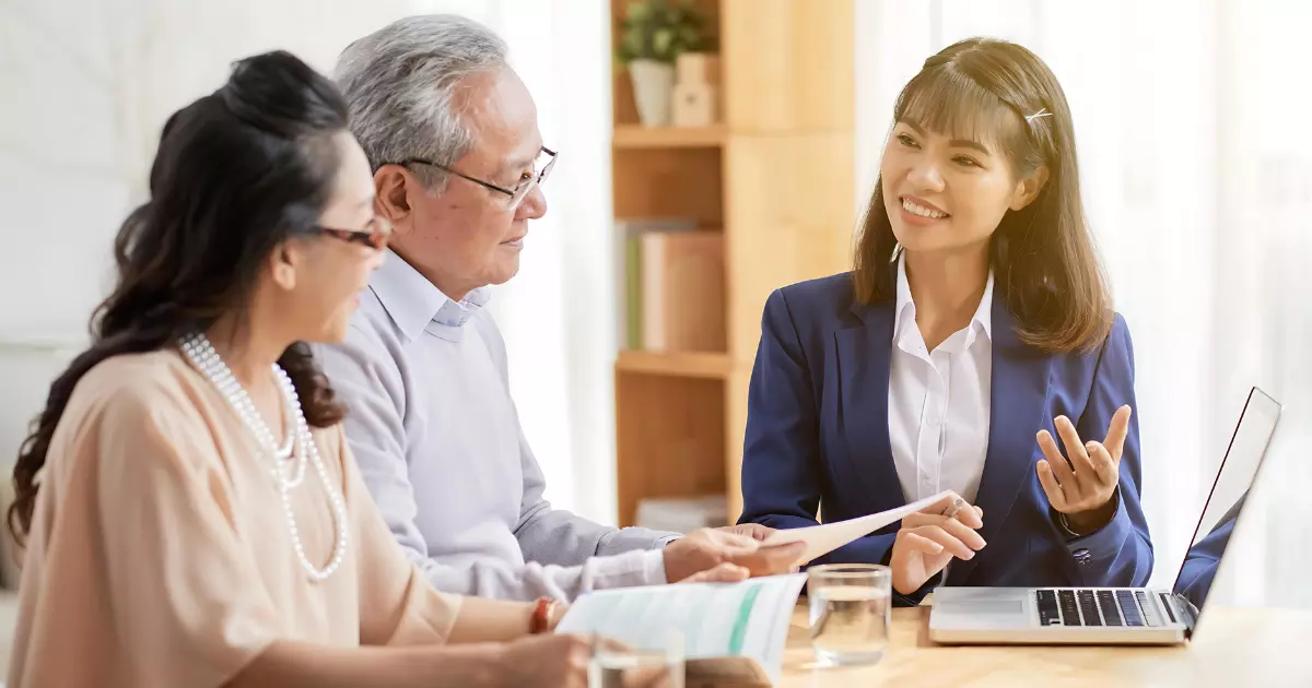
M 110 356 L 171 346 L 243 309 L 270 252 L 319 223 L 337 176 L 333 136 L 345 130 L 346 105 L 333 84 L 283 51 L 237 62 L 222 88 L 169 117 L 150 201 L 127 216 L 114 242 L 118 283 L 92 316 L 92 345 L 50 387 L 18 452 L 8 520 L 20 541 L 77 381 Z M 310 425 L 341 419 L 303 343 L 278 364 Z

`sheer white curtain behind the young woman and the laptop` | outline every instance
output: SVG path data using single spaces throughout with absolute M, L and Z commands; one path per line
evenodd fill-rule
M 972 35 L 1022 43 L 1075 115 L 1084 201 L 1135 343 L 1153 584 L 1176 577 L 1249 387 L 1284 404 L 1218 595 L 1312 605 L 1312 7 L 854 0 L 858 203 L 897 90 Z

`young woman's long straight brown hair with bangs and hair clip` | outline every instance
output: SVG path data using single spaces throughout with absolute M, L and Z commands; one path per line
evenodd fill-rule
M 1026 115 L 1048 113 L 1044 117 Z M 893 122 L 954 138 L 997 142 L 1022 178 L 1048 180 L 1019 211 L 1008 211 L 989 245 L 998 294 L 1021 341 L 1047 353 L 1097 347 L 1111 329 L 1111 295 L 1080 199 L 1071 107 L 1034 52 L 971 38 L 925 60 L 897 97 Z M 897 240 L 875 182 L 857 244 L 853 286 L 863 304 L 896 299 Z

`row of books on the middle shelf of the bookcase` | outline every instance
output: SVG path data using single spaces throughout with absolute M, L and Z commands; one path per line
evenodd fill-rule
M 724 351 L 724 235 L 680 219 L 618 224 L 625 246 L 625 346 Z

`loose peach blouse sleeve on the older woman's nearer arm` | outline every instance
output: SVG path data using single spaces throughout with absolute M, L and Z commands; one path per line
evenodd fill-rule
M 104 577 L 106 630 L 139 685 L 222 685 L 286 634 L 235 527 L 222 457 L 186 400 L 138 388 L 105 401 L 72 440 L 60 516 L 72 520 L 64 535 L 85 524 L 64 545 L 98 549 L 85 556 L 102 570 L 63 570 L 58 556 L 49 570 Z

